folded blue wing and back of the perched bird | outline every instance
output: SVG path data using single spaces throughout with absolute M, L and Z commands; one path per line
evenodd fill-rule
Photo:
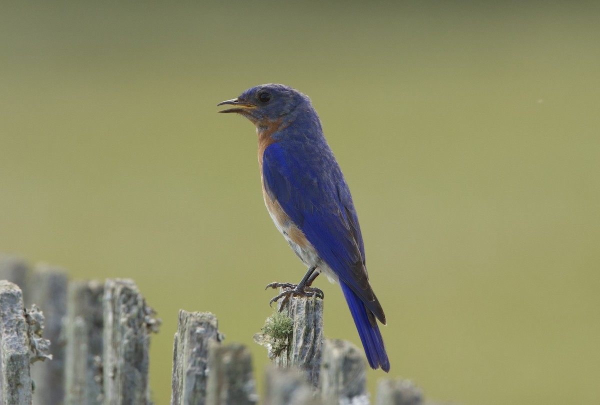
M 376 324 L 373 315 L 385 324 L 383 309 L 368 282 L 358 217 L 340 167 L 326 144 L 318 154 L 298 148 L 302 145 L 273 143 L 266 148 L 266 192 L 304 232 L 340 282 L 368 308 L 370 324 Z

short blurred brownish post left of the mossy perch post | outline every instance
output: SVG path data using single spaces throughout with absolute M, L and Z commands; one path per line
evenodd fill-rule
M 258 402 L 252 358 L 243 344 L 210 344 L 208 369 L 207 405 L 253 405 Z

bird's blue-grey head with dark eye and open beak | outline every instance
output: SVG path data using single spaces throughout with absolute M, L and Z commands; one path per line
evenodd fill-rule
M 310 106 L 310 99 L 298 90 L 283 84 L 262 84 L 245 90 L 238 98 L 220 102 L 233 105 L 220 113 L 238 113 L 256 126 L 293 120 L 299 111 Z

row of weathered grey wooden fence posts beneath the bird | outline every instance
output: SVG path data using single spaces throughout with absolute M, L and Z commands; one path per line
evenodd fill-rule
M 132 280 L 69 282 L 10 256 L 0 256 L 0 280 L 0 405 L 152 403 L 149 341 L 160 321 Z M 362 349 L 323 338 L 322 314 L 320 298 L 292 298 L 254 336 L 274 364 L 260 400 L 247 347 L 223 344 L 212 313 L 180 310 L 171 404 L 370 404 Z M 423 403 L 401 379 L 382 380 L 374 402 Z

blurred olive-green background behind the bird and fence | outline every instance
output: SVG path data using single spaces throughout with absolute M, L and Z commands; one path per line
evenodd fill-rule
M 0 251 L 131 277 L 250 346 L 305 268 L 256 135 L 215 105 L 311 96 L 353 192 L 391 376 L 460 404 L 600 403 L 598 2 L 2 2 Z M 360 344 L 337 286 L 325 328 Z M 382 371 L 370 371 L 374 392 Z

